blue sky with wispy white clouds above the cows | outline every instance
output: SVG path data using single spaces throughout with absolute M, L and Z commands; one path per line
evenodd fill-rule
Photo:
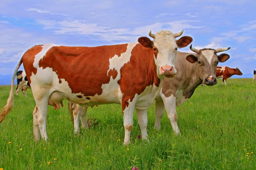
M 13 74 L 23 53 L 34 45 L 137 42 L 150 30 L 184 30 L 183 36 L 191 36 L 198 49 L 231 47 L 225 52 L 230 59 L 219 66 L 252 74 L 255 11 L 254 0 L 1 0 L 0 74 Z

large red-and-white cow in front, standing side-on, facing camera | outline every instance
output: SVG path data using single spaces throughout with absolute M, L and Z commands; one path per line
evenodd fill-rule
M 159 94 L 163 77 L 175 77 L 177 48 L 192 42 L 180 33 L 159 31 L 140 37 L 139 43 L 98 47 L 68 47 L 56 44 L 35 45 L 20 59 L 12 78 L 0 122 L 13 106 L 13 84 L 23 63 L 36 102 L 33 111 L 34 139 L 47 140 L 48 105 L 59 107 L 63 99 L 80 106 L 118 103 L 122 105 L 125 139 L 130 143 L 133 113 L 136 108 L 142 138 L 147 139 L 147 108 Z M 79 116 L 80 117 L 80 116 Z

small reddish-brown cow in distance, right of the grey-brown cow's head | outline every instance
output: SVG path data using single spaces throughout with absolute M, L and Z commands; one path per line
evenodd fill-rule
M 217 67 L 217 71 L 216 71 L 216 77 L 218 78 L 223 78 L 222 79 L 222 84 L 225 82 L 227 82 L 227 79 L 230 78 L 233 75 L 243 75 L 242 72 L 239 70 L 239 68 L 229 68 L 227 66 L 223 66 L 223 67 Z

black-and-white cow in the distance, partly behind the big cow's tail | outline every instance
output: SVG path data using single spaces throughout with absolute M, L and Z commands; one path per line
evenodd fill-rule
M 16 88 L 16 95 L 19 94 L 19 91 L 20 91 L 20 89 L 21 89 L 23 95 L 24 95 L 25 97 L 28 97 L 28 96 L 26 95 L 26 89 L 27 89 L 27 88 L 30 88 L 30 85 L 29 85 L 29 81 L 28 81 L 28 79 L 27 79 L 27 77 L 26 77 L 26 73 L 25 73 L 25 71 L 21 71 L 21 70 L 20 70 L 20 71 L 17 72 L 17 88 Z

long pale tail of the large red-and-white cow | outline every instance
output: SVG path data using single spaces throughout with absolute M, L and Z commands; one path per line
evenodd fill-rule
M 12 110 L 13 101 L 14 101 L 14 89 L 13 89 L 13 86 L 14 86 L 14 81 L 15 81 L 15 77 L 16 77 L 17 71 L 20 68 L 20 65 L 22 64 L 22 58 L 23 57 L 21 57 L 20 62 L 17 65 L 17 67 L 16 67 L 16 69 L 14 71 L 14 74 L 12 76 L 11 91 L 10 91 L 9 97 L 7 99 L 6 105 L 3 107 L 3 109 L 0 112 L 0 123 L 3 122 L 3 119 L 5 118 L 5 116 Z

